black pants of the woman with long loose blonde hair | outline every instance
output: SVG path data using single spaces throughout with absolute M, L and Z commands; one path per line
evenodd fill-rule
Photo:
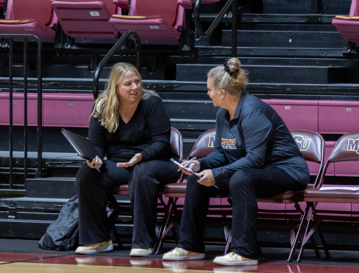
M 122 168 L 107 160 L 100 170 L 101 173 L 85 165 L 76 174 L 80 244 L 110 240 L 105 199 L 112 188 L 128 182 L 134 219 L 132 248 L 154 247 L 158 189 L 177 181 L 180 172 L 176 165 L 170 161 L 152 160 Z

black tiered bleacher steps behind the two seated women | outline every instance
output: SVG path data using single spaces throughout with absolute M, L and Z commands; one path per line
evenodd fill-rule
M 202 7 L 204 27 L 213 21 L 223 1 Z M 348 100 L 359 96 L 359 61 L 345 59 L 346 42 L 331 25 L 334 15 L 348 15 L 350 0 L 239 1 L 237 57 L 249 71 L 248 91 L 261 99 Z M 6 8 L 6 5 L 5 5 Z M 5 9 L 6 10 L 6 9 Z M 221 20 L 214 35 L 195 35 L 195 47 L 181 42 L 143 41 L 141 74 L 145 88 L 162 97 L 173 127 L 184 137 L 184 157 L 197 137 L 214 128 L 216 109 L 206 88 L 206 72 L 230 58 L 232 13 Z M 63 34 L 63 33 L 62 33 Z M 113 46 L 113 40 L 67 39 L 43 43 L 44 93 L 92 94 L 97 64 Z M 29 92 L 36 92 L 35 49 L 29 50 Z M 14 49 L 14 91 L 22 92 L 23 59 L 20 45 Z M 134 49 L 122 48 L 104 67 L 99 90 L 104 89 L 111 65 L 135 63 Z M 0 92 L 9 91 L 8 44 L 0 46 Z M 23 182 L 23 159 L 14 157 L 15 183 L 20 191 L 8 190 L 8 126 L 0 126 L 0 237 L 40 238 L 56 219 L 60 207 L 75 194 L 74 177 L 83 163 L 62 137 L 61 127 L 43 128 L 43 177 L 36 178 L 36 156 L 30 157 L 29 179 Z M 67 128 L 87 135 L 87 128 Z M 14 150 L 22 151 L 22 126 L 15 126 Z M 36 127 L 29 128 L 29 150 L 36 151 Z M 336 140 L 339 135 L 326 135 Z M 72 153 L 72 154 L 69 154 Z M 25 196 L 25 197 L 24 197 Z M 5 198 L 7 197 L 7 198 Z M 123 206 L 128 199 L 121 197 Z M 127 216 L 123 216 L 125 220 Z M 119 222 L 117 229 L 127 238 L 131 227 Z M 278 240 L 278 238 L 273 239 Z

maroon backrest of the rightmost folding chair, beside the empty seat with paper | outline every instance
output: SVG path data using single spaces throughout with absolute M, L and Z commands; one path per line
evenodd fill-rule
M 344 134 L 338 139 L 323 167 L 319 187 L 323 184 L 328 165 L 342 161 L 359 161 L 359 131 Z

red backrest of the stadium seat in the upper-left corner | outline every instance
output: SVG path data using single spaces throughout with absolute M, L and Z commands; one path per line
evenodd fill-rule
M 12 8 L 13 20 L 33 19 L 49 26 L 52 22 L 53 9 L 50 0 L 9 0 L 8 7 Z M 8 11 L 6 10 L 6 14 Z

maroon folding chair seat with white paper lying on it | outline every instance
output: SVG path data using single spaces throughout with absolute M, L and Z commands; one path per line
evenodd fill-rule
M 332 189 L 323 190 L 325 187 L 309 188 L 304 191 L 304 200 L 307 202 L 338 202 L 338 203 L 359 203 L 359 189 Z

